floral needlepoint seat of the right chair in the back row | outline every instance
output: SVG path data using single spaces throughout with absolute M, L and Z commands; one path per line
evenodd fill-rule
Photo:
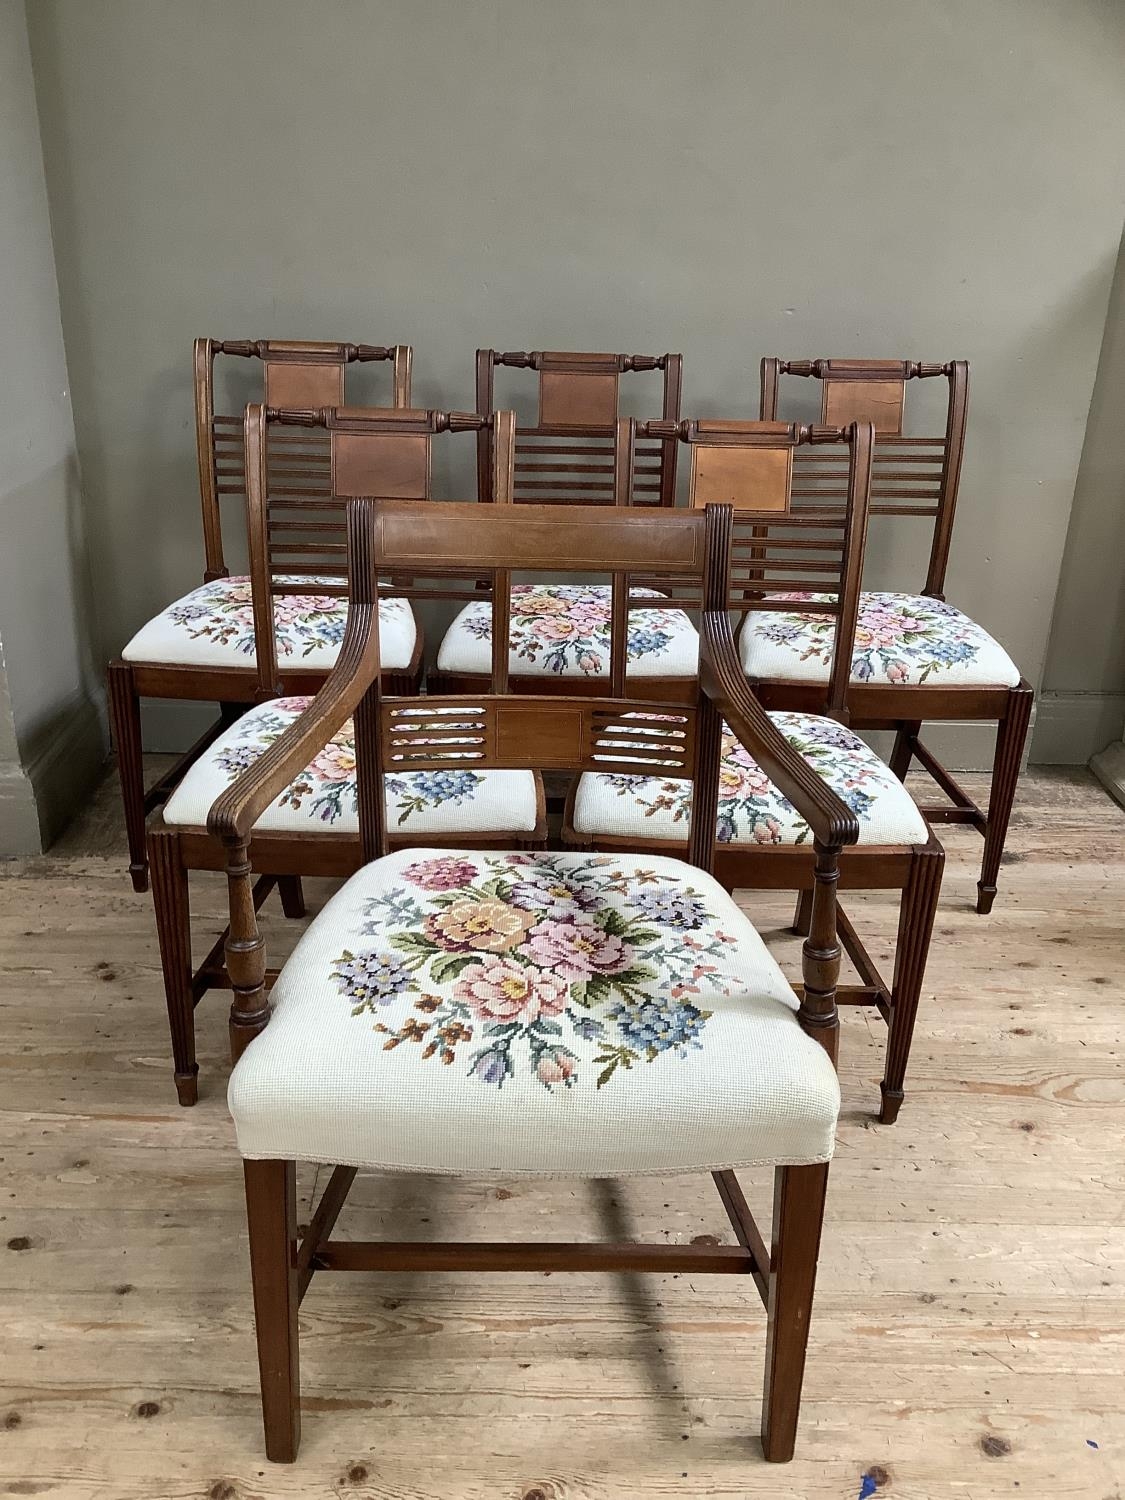
M 774 594 L 826 600 L 830 594 Z M 740 636 L 746 675 L 762 682 L 826 682 L 836 621 L 798 610 L 754 610 Z M 924 594 L 861 594 L 854 682 L 896 687 L 1016 687 L 1020 669 L 960 609 Z

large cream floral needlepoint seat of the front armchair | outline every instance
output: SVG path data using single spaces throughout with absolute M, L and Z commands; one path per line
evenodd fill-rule
M 804 1164 L 840 1094 L 716 880 L 658 855 L 410 849 L 314 920 L 238 1060 L 250 1158 L 622 1176 Z

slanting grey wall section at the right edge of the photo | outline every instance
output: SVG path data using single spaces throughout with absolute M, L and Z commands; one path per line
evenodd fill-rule
M 1125 238 L 1062 558 L 1036 760 L 1088 760 L 1125 724 Z

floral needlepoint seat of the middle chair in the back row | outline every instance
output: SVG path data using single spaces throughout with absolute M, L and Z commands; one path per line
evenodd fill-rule
M 633 597 L 660 598 L 634 588 Z M 513 584 L 508 670 L 534 676 L 609 674 L 610 590 L 600 584 Z M 630 676 L 686 676 L 699 670 L 699 636 L 681 609 L 628 615 Z M 466 604 L 438 648 L 440 672 L 492 670 L 492 603 Z

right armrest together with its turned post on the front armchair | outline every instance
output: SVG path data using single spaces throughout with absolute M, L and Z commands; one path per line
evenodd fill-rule
M 858 840 L 860 822 L 843 798 L 794 750 L 750 692 L 735 651 L 730 621 L 718 610 L 704 614 L 699 676 L 704 693 L 730 732 L 813 831 L 813 914 L 801 950 L 804 993 L 798 1020 L 836 1062 L 836 987 L 840 976 L 836 888 L 840 879 L 840 852 Z

